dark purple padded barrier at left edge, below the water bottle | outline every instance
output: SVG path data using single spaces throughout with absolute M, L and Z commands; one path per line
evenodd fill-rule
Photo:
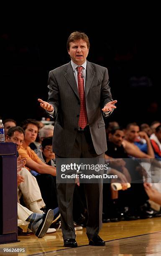
M 17 148 L 0 143 L 0 243 L 17 239 Z

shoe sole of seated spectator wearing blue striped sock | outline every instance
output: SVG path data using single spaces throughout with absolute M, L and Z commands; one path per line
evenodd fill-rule
M 45 236 L 47 230 L 49 229 L 52 223 L 53 218 L 54 218 L 53 210 L 49 210 L 46 214 L 45 220 L 43 221 L 43 225 L 39 227 L 35 233 L 35 235 L 38 238 L 42 238 L 43 236 Z

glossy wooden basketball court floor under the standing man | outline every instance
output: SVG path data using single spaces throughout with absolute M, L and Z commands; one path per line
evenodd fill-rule
M 70 256 L 161 256 L 161 217 L 146 220 L 103 223 L 100 237 L 106 246 L 88 246 L 86 229 L 76 231 L 78 248 L 64 248 L 61 231 L 46 234 L 43 238 L 35 235 L 19 236 L 18 243 L 1 244 L 2 248 L 26 248 L 26 253 L 9 255 L 70 255 Z M 7 255 L 0 253 L 0 255 Z

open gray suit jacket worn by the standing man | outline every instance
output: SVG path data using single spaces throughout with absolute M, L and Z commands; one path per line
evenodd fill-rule
M 54 106 L 53 151 L 68 157 L 74 146 L 80 113 L 80 98 L 71 62 L 49 72 L 49 99 Z M 102 108 L 112 101 L 105 67 L 87 61 L 85 98 L 93 145 L 98 155 L 107 150 Z

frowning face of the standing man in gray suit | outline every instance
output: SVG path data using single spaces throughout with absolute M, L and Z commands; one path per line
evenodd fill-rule
M 87 43 L 82 40 L 75 40 L 70 42 L 70 49 L 68 51 L 72 61 L 81 66 L 88 56 L 89 49 L 87 48 Z

